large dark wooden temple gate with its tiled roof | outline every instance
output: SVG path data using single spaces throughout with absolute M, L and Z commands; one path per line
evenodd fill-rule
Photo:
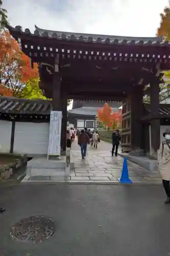
M 169 43 L 162 37 L 123 37 L 79 34 L 35 27 L 8 27 L 33 62 L 38 62 L 40 88 L 61 110 L 62 147 L 65 147 L 67 99 L 122 101 L 123 148 L 143 151 L 143 94 L 150 84 L 151 155 L 159 146 L 159 82 L 170 69 Z

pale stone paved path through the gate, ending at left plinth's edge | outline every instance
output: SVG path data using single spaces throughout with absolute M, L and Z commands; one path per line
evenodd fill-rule
M 111 157 L 111 144 L 101 141 L 98 149 L 88 146 L 85 160 L 81 159 L 80 146 L 77 141 L 72 143 L 72 154 L 75 159 L 75 172 L 71 173 L 72 181 L 112 181 L 118 182 L 121 176 L 122 157 Z M 129 176 L 133 182 L 159 184 L 160 175 L 150 172 L 139 165 L 128 162 Z

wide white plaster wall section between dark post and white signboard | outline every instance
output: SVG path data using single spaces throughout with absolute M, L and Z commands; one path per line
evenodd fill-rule
M 47 154 L 49 123 L 16 122 L 14 153 Z

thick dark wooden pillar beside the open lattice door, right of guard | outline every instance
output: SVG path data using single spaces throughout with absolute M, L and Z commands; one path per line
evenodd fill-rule
M 131 93 L 131 154 L 142 154 L 143 86 L 133 87 Z

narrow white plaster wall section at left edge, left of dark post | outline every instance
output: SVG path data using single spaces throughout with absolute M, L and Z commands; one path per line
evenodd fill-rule
M 0 152 L 9 153 L 11 145 L 12 122 L 0 120 Z

